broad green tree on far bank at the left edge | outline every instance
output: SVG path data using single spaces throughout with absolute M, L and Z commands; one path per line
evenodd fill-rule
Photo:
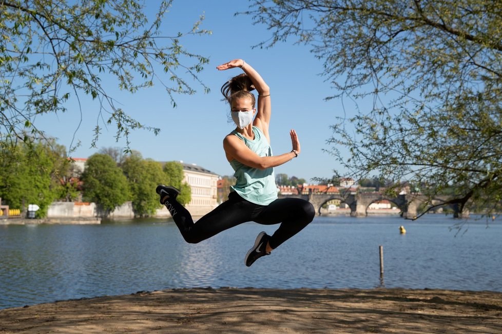
M 0 145 L 2 201 L 22 210 L 36 204 L 40 209 L 35 217 L 45 217 L 49 205 L 62 193 L 61 175 L 68 164 L 65 148 L 53 139 L 20 143 L 14 148 L 4 141 Z

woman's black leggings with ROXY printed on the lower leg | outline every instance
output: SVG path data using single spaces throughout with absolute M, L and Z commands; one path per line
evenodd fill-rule
M 314 206 L 301 198 L 282 198 L 268 205 L 258 205 L 243 199 L 236 192 L 231 192 L 227 201 L 201 217 L 197 223 L 178 201 L 168 200 L 165 205 L 181 235 L 189 243 L 198 243 L 230 227 L 255 221 L 263 225 L 281 223 L 268 241 L 272 248 L 276 248 L 300 232 L 315 216 Z

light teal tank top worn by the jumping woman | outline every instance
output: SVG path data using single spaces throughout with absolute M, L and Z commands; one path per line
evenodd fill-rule
M 242 139 L 244 144 L 260 157 L 272 156 L 272 148 L 259 128 L 253 126 L 255 135 L 253 140 L 243 137 L 235 130 L 231 133 Z M 230 165 L 234 169 L 234 176 L 237 179 L 236 184 L 230 186 L 230 191 L 235 191 L 242 198 L 259 205 L 268 205 L 277 199 L 274 168 L 259 170 L 246 166 L 236 159 L 230 161 Z

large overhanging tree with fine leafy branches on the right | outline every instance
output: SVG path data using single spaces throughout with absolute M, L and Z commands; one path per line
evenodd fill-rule
M 247 13 L 272 30 L 260 46 L 311 46 L 335 88 L 327 98 L 355 102 L 329 150 L 353 178 L 378 174 L 393 193 L 409 182 L 430 199 L 454 188 L 461 211 L 499 210 L 501 2 L 257 0 Z

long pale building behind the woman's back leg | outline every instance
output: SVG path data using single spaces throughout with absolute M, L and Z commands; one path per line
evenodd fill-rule
M 203 216 L 218 205 L 218 174 L 197 164 L 181 163 L 183 181 L 190 185 L 191 200 L 185 205 L 192 216 Z

